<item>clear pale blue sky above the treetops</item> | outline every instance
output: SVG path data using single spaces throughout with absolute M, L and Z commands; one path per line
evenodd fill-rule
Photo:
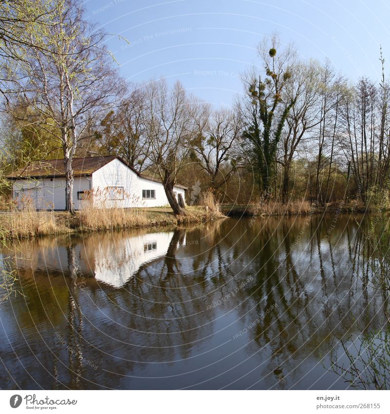
M 240 74 L 277 31 L 303 58 L 329 58 L 352 80 L 379 79 L 379 45 L 390 74 L 390 3 L 384 0 L 89 0 L 86 18 L 113 34 L 123 77 L 166 77 L 216 106 L 242 93 Z

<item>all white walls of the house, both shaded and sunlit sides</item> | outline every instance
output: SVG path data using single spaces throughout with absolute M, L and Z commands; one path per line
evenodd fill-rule
M 89 178 L 89 179 L 88 179 Z M 160 207 L 168 205 L 164 187 L 161 183 L 138 177 L 118 159 L 113 159 L 108 164 L 98 169 L 92 176 L 75 177 L 73 187 L 73 202 L 75 209 L 80 209 L 82 200 L 78 200 L 78 191 L 88 191 L 93 188 L 94 194 L 99 190 L 105 193 L 106 187 L 124 187 L 123 200 L 106 200 L 106 207 Z M 14 198 L 18 201 L 19 208 L 21 197 L 31 197 L 38 209 L 65 209 L 65 179 L 64 178 L 43 178 L 37 180 L 15 180 L 13 184 Z M 142 190 L 155 190 L 156 198 L 142 199 Z M 182 188 L 174 188 L 176 193 L 181 193 Z M 177 196 L 176 196 L 177 197 Z M 107 198 L 107 197 L 105 197 Z M 98 197 L 94 197 L 94 203 L 101 205 Z

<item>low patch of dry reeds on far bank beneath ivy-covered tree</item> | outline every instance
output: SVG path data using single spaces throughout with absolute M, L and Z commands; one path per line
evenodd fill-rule
M 305 199 L 291 200 L 288 204 L 279 201 L 260 201 L 248 211 L 254 216 L 297 216 L 313 213 L 315 208 Z

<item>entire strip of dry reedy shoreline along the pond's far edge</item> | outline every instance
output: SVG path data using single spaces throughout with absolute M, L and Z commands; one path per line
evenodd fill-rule
M 176 217 L 168 207 L 150 209 L 78 211 L 74 216 L 66 212 L 23 211 L 0 214 L 0 240 L 12 242 L 34 237 L 98 233 L 112 230 L 154 228 L 200 224 L 208 220 L 229 217 L 308 216 L 313 214 L 370 213 L 378 208 L 363 205 L 331 203 L 313 207 L 309 203 L 283 205 L 280 203 L 253 206 L 222 206 L 219 210 L 203 206 L 187 206 L 187 216 Z

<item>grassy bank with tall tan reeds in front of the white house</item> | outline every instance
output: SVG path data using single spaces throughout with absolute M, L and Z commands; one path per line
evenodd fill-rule
M 78 232 L 97 232 L 139 227 L 201 223 L 224 217 L 220 212 L 188 206 L 185 217 L 176 217 L 169 207 L 148 209 L 88 209 L 74 216 L 65 212 L 26 210 L 0 214 L 0 239 L 12 240 Z

